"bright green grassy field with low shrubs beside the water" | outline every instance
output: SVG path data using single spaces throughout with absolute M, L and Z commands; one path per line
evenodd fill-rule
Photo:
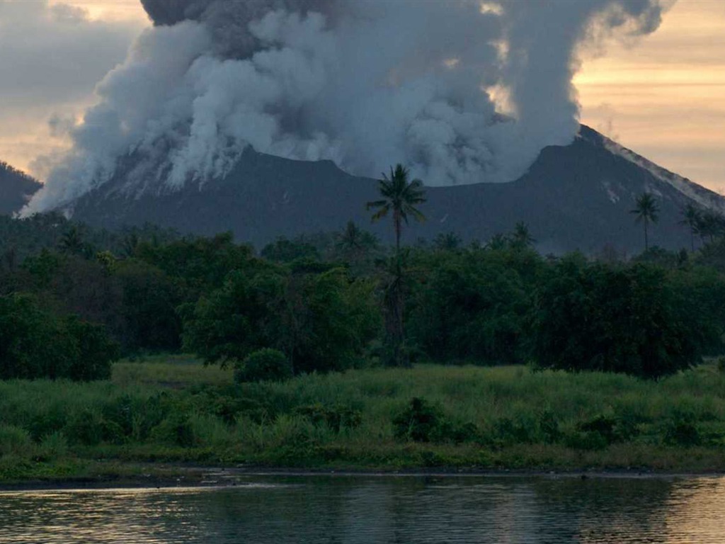
M 230 370 L 165 356 L 116 363 L 108 382 L 0 382 L 0 482 L 188 462 L 721 471 L 725 374 L 417 366 L 235 385 Z

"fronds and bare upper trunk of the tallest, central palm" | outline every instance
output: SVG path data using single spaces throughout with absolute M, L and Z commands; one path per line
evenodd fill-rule
M 426 221 L 426 216 L 415 207 L 426 202 L 423 181 L 418 178 L 408 181 L 407 168 L 398 164 L 395 170 L 390 167 L 390 177 L 383 174 L 383 178 L 378 181 L 378 191 L 383 198 L 368 202 L 367 209 L 378 210 L 373 214 L 373 221 L 378 221 L 392 212 L 393 228 L 395 229 L 395 254 L 399 256 L 403 221 L 407 225 L 409 215 L 415 221 Z

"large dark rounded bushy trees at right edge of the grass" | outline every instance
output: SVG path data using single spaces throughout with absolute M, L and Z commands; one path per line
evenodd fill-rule
M 534 317 L 540 367 L 659 378 L 700 361 L 702 319 L 660 268 L 570 257 L 549 274 Z

